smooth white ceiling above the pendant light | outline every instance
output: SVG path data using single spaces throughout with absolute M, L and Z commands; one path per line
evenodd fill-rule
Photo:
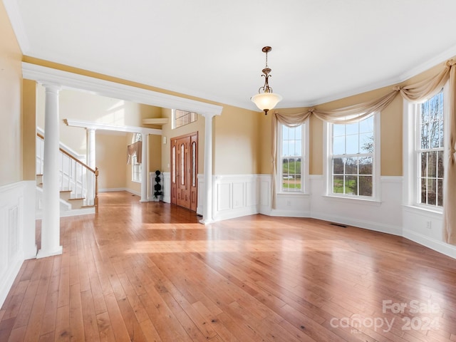
M 3 1 L 26 56 L 252 110 L 263 46 L 279 108 L 456 56 L 455 0 Z

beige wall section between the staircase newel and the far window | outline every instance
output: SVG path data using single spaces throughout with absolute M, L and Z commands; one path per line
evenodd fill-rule
M 119 189 L 126 187 L 125 134 L 95 133 L 95 164 L 98 167 L 98 189 Z

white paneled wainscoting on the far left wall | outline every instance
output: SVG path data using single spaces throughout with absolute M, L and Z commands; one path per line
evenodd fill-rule
M 0 187 L 0 307 L 25 259 L 36 257 L 35 181 Z

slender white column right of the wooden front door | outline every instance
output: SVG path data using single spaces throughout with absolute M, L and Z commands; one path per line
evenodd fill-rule
M 202 224 L 212 222 L 212 117 L 204 115 L 204 206 L 202 208 Z

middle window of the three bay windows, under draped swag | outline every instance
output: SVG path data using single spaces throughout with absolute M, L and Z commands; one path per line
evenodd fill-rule
M 328 195 L 374 199 L 378 115 L 356 123 L 328 124 Z

